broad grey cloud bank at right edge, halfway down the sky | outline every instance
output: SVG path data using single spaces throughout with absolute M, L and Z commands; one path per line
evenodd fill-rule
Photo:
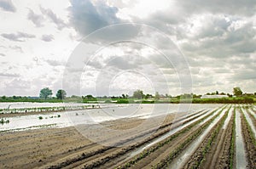
M 196 36 L 198 38 L 183 43 L 183 50 L 189 55 L 205 55 L 213 58 L 230 57 L 256 51 L 256 39 L 253 38 L 256 30 L 253 29 L 252 24 L 243 25 L 236 30 L 222 30 L 222 33 L 212 37 L 214 30 L 214 27 L 212 27 L 212 31 L 202 30 L 199 36 Z

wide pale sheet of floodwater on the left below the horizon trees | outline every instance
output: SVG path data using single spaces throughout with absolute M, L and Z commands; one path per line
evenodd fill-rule
M 6 108 L 12 103 L 0 103 L 0 107 Z M 67 104 L 65 104 L 67 105 Z M 81 104 L 73 104 L 78 106 Z M 83 104 L 84 105 L 84 104 Z M 157 115 L 167 115 L 171 113 L 190 114 L 199 110 L 212 109 L 221 104 L 101 104 L 101 109 L 74 110 L 66 112 L 54 112 L 49 114 L 23 115 L 9 117 L 9 123 L 0 125 L 0 131 L 26 130 L 42 126 L 49 127 L 70 127 L 81 124 L 96 124 L 102 121 L 111 121 L 121 118 L 149 118 Z M 27 107 L 55 107 L 63 104 L 51 103 L 14 103 L 13 108 Z M 60 117 L 57 117 L 61 115 Z M 40 120 L 39 116 L 43 119 Z

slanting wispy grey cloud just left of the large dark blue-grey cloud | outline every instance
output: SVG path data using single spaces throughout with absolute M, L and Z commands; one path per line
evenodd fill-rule
M 40 10 L 42 14 L 46 15 L 49 20 L 51 20 L 59 30 L 62 30 L 64 27 L 67 27 L 67 24 L 64 22 L 64 20 L 61 20 L 53 11 L 49 8 L 43 8 L 40 6 Z

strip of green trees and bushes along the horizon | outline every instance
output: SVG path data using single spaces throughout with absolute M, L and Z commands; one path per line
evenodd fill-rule
M 236 98 L 245 98 L 245 97 L 256 97 L 256 93 L 243 93 L 241 91 L 240 87 L 234 87 L 233 88 L 233 94 L 230 93 L 219 93 L 218 91 L 213 92 L 213 93 L 206 93 L 207 95 L 227 95 L 230 98 L 236 96 Z M 185 100 L 185 99 L 194 99 L 195 102 L 201 102 L 201 95 L 196 95 L 195 93 L 184 93 L 184 94 L 180 94 L 177 96 L 171 96 L 170 94 L 160 94 L 158 92 L 155 92 L 154 94 L 149 94 L 149 93 L 143 93 L 143 90 L 137 89 L 136 91 L 133 92 L 133 94 L 131 96 L 129 96 L 128 94 L 121 94 L 120 96 L 97 96 L 94 97 L 91 94 L 85 95 L 85 96 L 71 96 L 71 97 L 67 97 L 67 92 L 64 89 L 59 89 L 56 93 L 55 93 L 55 97 L 52 97 L 53 92 L 49 87 L 44 87 L 43 89 L 40 90 L 39 92 L 39 98 L 38 97 L 21 97 L 21 96 L 12 96 L 12 97 L 6 97 L 6 96 L 2 96 L 0 98 L 0 101 L 33 101 L 33 100 L 38 100 L 38 101 L 42 101 L 44 102 L 44 100 L 49 100 L 49 101 L 55 101 L 58 102 L 58 100 L 63 100 L 63 99 L 71 99 L 71 100 L 79 100 L 82 99 L 84 101 L 86 100 L 97 100 L 97 99 L 142 99 L 142 100 L 160 100 L 160 99 L 172 99 L 172 101 L 174 99 L 177 100 Z M 217 99 L 216 99 L 217 100 Z M 224 100 L 224 99 L 223 99 Z M 204 101 L 207 102 L 207 100 L 205 99 Z M 217 101 L 222 101 L 222 100 L 217 100 Z M 177 103 L 174 100 L 175 103 Z

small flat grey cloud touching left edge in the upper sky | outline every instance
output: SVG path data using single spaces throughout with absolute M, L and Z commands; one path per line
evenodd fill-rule
M 3 33 L 1 34 L 2 37 L 9 39 L 10 41 L 15 42 L 24 42 L 28 38 L 34 38 L 36 36 L 24 32 L 18 31 L 17 33 Z

